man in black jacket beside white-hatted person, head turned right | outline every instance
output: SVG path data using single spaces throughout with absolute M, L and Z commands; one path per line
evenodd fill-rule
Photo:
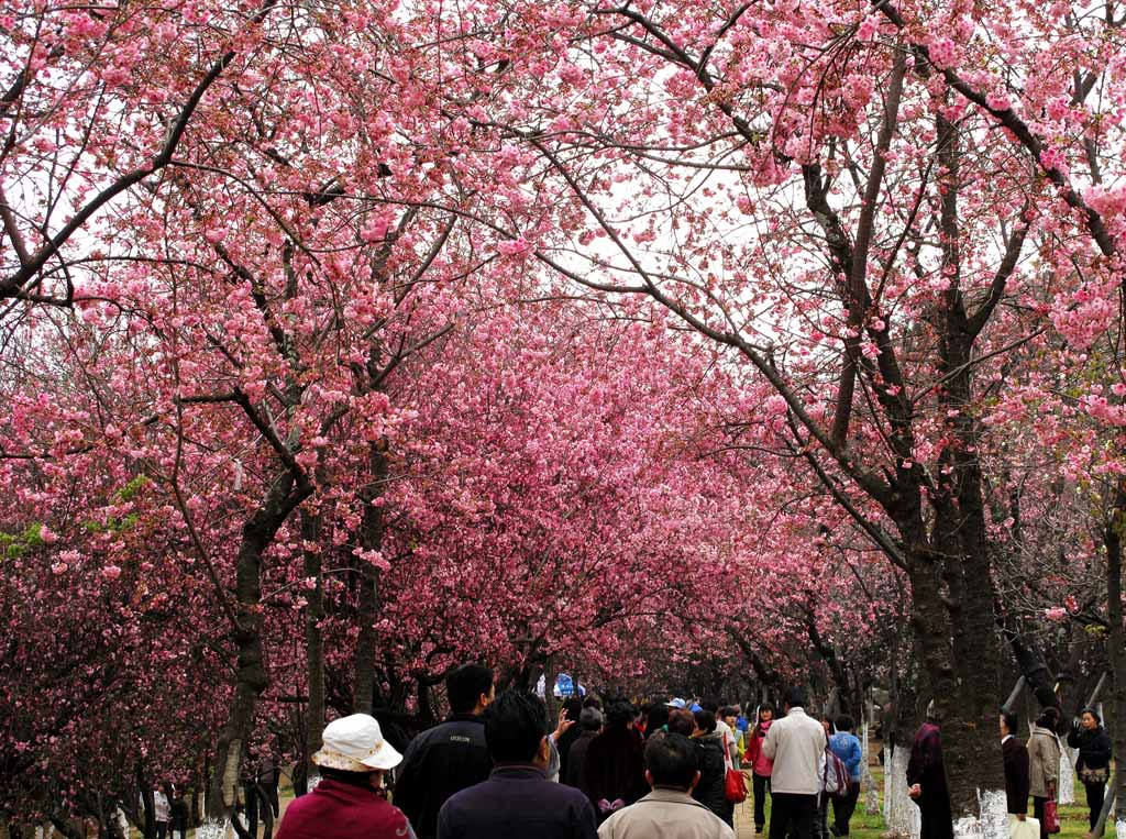
M 489 777 L 492 760 L 482 714 L 494 693 L 492 670 L 481 664 L 457 668 L 446 677 L 449 718 L 419 734 L 406 748 L 394 802 L 419 839 L 435 839 L 438 811 L 454 793 Z

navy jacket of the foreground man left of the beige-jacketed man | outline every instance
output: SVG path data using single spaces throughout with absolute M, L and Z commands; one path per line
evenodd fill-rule
M 578 789 L 535 766 L 498 766 L 488 780 L 453 796 L 438 839 L 597 839 L 595 809 Z

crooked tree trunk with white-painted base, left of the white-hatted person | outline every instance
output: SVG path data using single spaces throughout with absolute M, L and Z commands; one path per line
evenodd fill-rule
M 294 476 L 285 470 L 270 484 L 262 503 L 242 528 L 235 564 L 235 619 L 233 632 L 239 659 L 234 697 L 226 723 L 215 744 L 215 762 L 207 789 L 206 818 L 196 839 L 226 839 L 231 813 L 239 795 L 240 764 L 243 746 L 253 724 L 258 697 L 269 685 L 262 660 L 261 637 L 261 561 L 278 528 L 289 514 L 312 494 L 312 487 L 294 485 Z

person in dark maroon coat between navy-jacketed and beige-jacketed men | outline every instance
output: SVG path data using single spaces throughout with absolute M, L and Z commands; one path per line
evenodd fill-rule
M 582 791 L 590 797 L 599 822 L 645 794 L 645 758 L 641 734 L 633 725 L 633 705 L 610 703 L 606 728 L 587 747 Z

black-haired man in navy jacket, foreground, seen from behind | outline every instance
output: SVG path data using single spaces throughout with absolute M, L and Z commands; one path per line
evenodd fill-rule
M 507 690 L 485 715 L 495 768 L 438 814 L 438 839 L 596 839 L 595 810 L 578 789 L 547 779 L 547 709 L 531 694 Z

